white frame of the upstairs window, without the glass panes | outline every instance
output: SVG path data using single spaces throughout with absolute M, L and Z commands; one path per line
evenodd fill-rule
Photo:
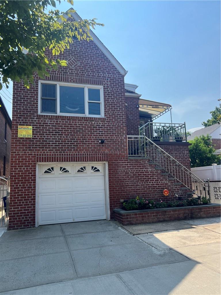
M 57 98 L 56 98 L 56 109 L 57 113 L 41 113 L 41 83 L 45 84 L 56 84 L 57 85 Z M 84 88 L 84 101 L 85 101 L 85 114 L 72 114 L 72 113 L 60 113 L 60 88 L 59 86 L 72 86 L 72 87 L 81 87 Z M 99 103 L 98 101 L 89 101 L 88 100 L 88 88 L 100 89 L 100 115 L 89 115 L 88 114 L 88 102 Z M 104 118 L 104 94 L 103 86 L 101 85 L 90 85 L 90 84 L 76 84 L 76 83 L 67 83 L 67 82 L 57 82 L 57 81 L 38 81 L 38 114 L 39 115 L 53 115 L 53 116 L 72 116 L 72 117 L 92 117 L 92 118 Z

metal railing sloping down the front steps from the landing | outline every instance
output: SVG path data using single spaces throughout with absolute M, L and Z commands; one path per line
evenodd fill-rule
M 129 157 L 150 159 L 151 164 L 156 165 L 168 175 L 168 179 L 171 178 L 177 184 L 183 184 L 193 193 L 193 196 L 210 198 L 209 179 L 207 182 L 202 181 L 159 145 L 146 137 L 144 131 L 140 133 L 142 134 L 140 136 L 128 136 Z

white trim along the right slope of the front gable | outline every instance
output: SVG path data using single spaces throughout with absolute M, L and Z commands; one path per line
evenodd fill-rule
M 68 12 L 68 11 L 67 11 Z M 72 15 L 72 17 L 78 21 L 78 20 L 82 20 L 82 18 L 77 14 L 77 12 L 71 12 L 70 13 Z M 68 18 L 67 14 L 64 14 L 63 17 Z M 118 62 L 118 60 L 113 56 L 112 53 L 110 53 L 110 51 L 107 49 L 107 47 L 105 47 L 105 45 L 98 39 L 98 37 L 93 33 L 92 30 L 89 31 L 91 37 L 93 38 L 93 41 L 95 42 L 95 44 L 100 48 L 100 50 L 106 55 L 106 57 L 111 61 L 111 63 L 113 63 L 113 65 L 118 69 L 118 71 L 125 76 L 127 74 L 128 71 L 125 70 L 125 68 L 123 68 L 123 66 Z

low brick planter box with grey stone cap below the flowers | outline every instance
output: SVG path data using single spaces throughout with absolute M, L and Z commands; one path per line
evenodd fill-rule
M 196 219 L 220 216 L 220 204 L 207 204 L 200 206 L 175 207 L 163 209 L 148 209 L 125 211 L 114 209 L 114 220 L 128 224 L 140 224 L 159 221 Z

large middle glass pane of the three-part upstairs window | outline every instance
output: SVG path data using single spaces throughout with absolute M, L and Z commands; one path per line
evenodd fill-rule
M 84 88 L 60 86 L 60 113 L 85 114 Z

